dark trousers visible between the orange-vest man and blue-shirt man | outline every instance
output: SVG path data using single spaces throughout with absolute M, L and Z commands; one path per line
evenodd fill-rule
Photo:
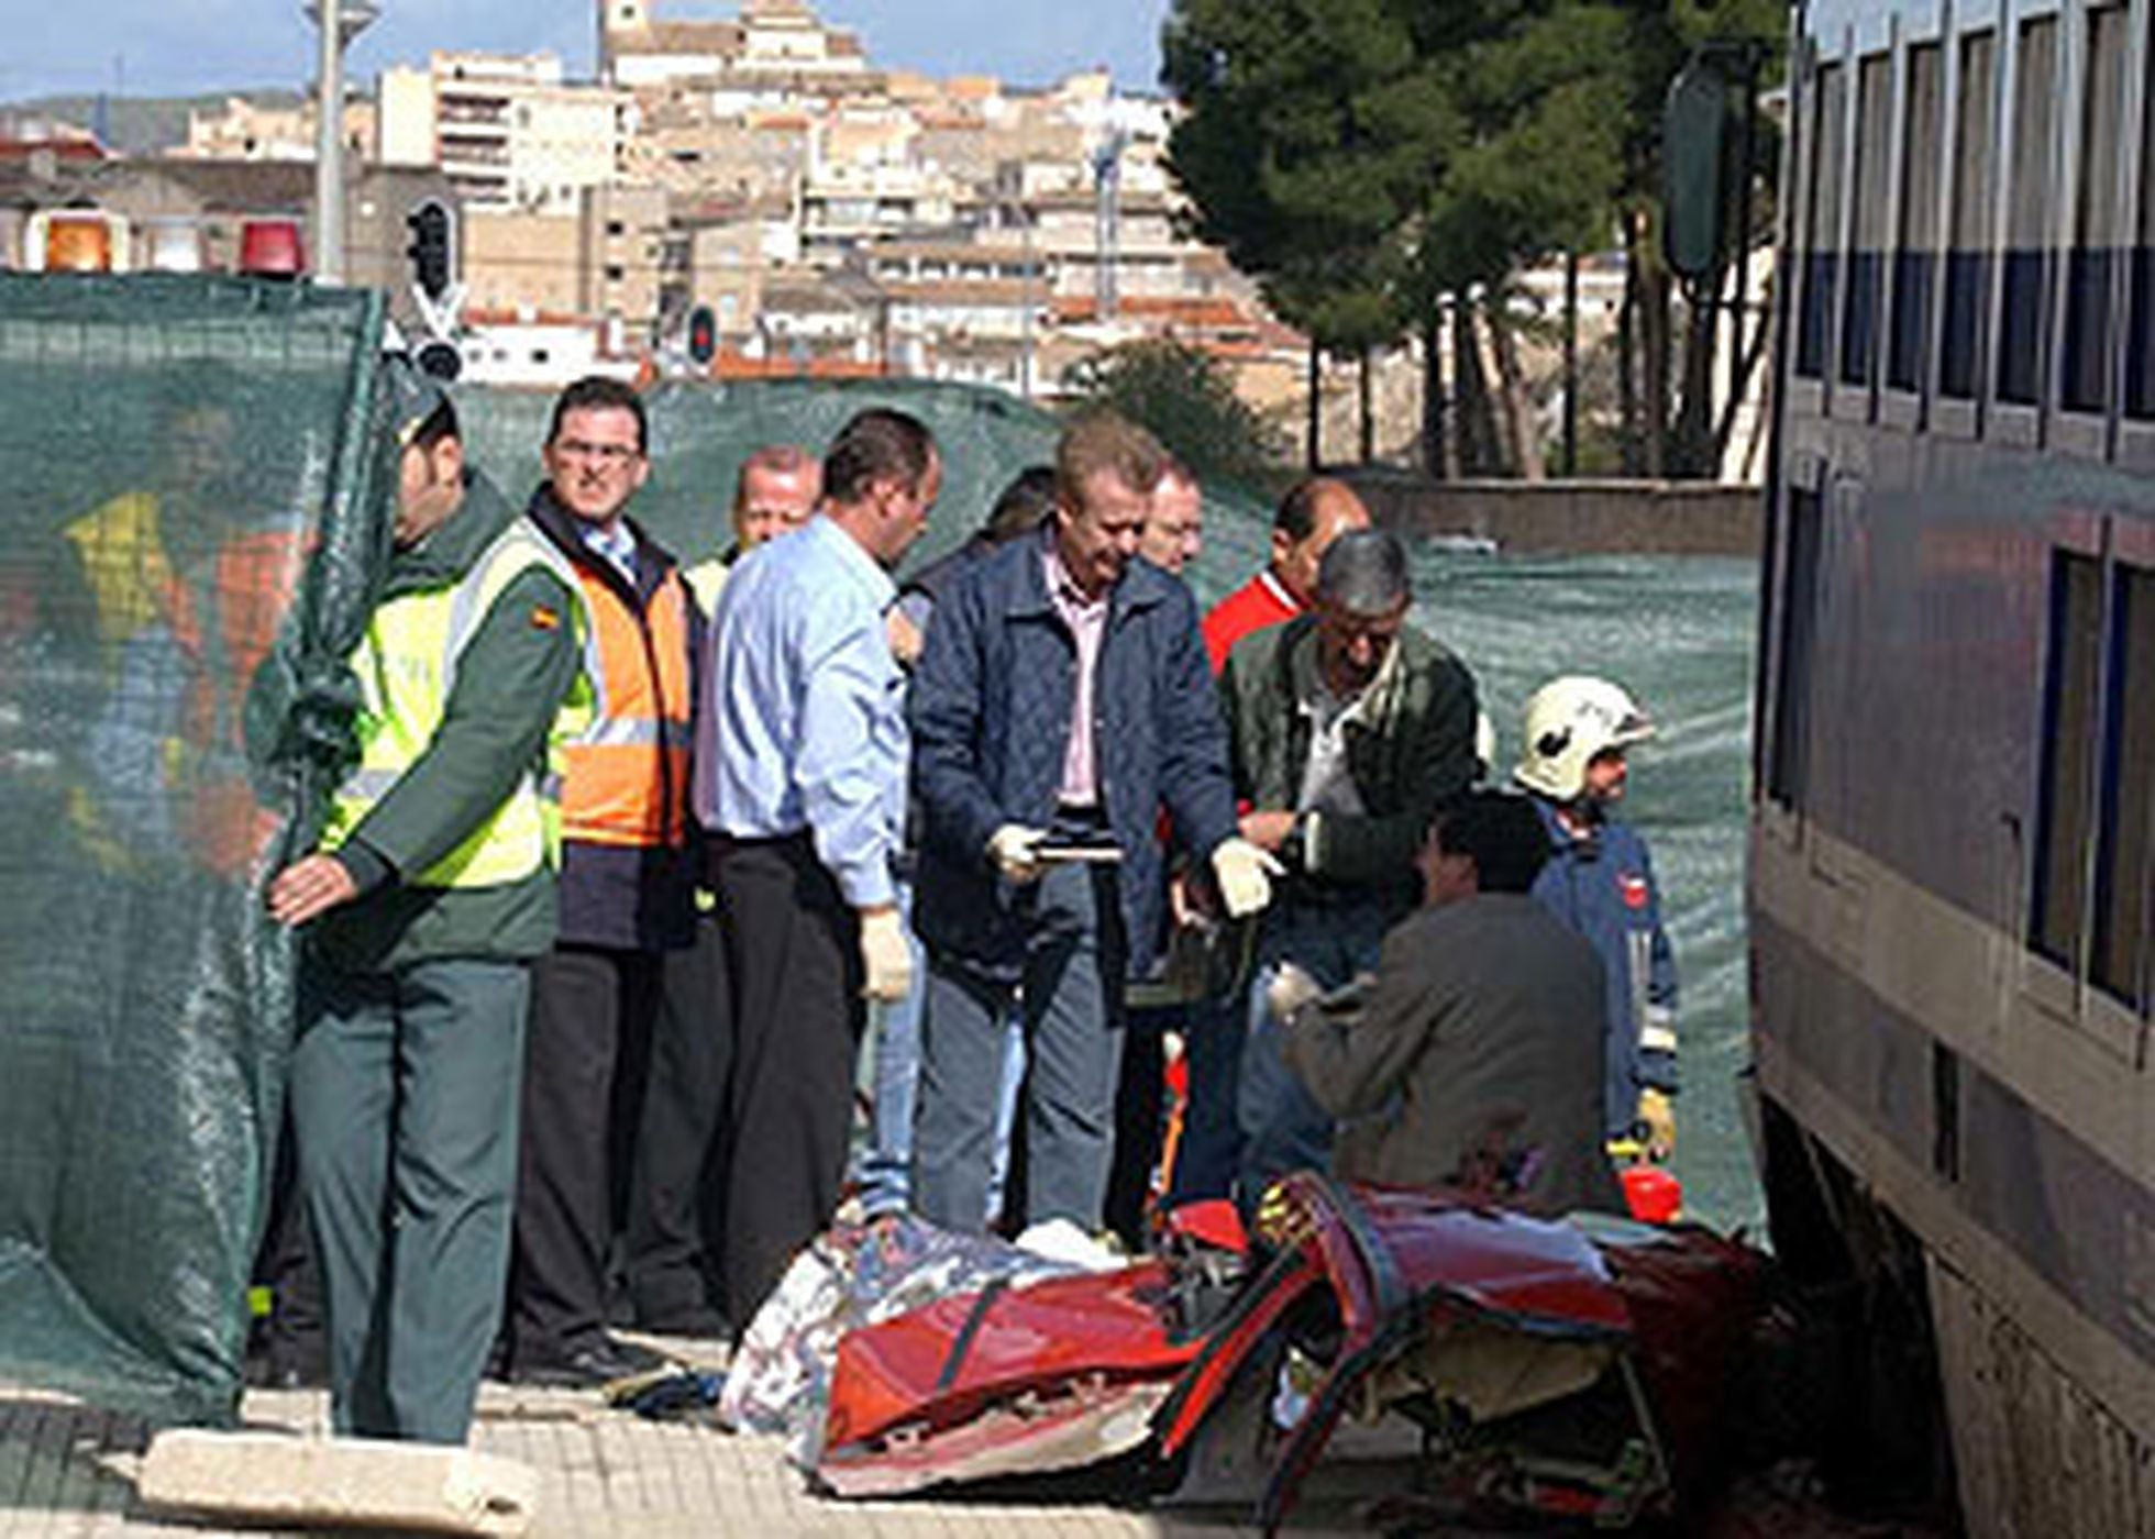
M 733 987 L 718 914 L 696 916 L 687 951 L 666 953 L 651 1028 L 651 1076 L 629 1186 L 627 1280 L 636 1321 L 657 1328 L 720 1306 L 726 1093 Z

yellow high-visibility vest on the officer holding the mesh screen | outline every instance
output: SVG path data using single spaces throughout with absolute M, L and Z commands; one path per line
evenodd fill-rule
M 545 763 L 532 763 L 493 817 L 405 882 L 425 888 L 489 888 L 524 882 L 541 866 L 560 864 L 562 748 L 590 729 L 593 681 L 599 670 L 575 569 L 526 517 L 513 519 L 457 584 L 405 593 L 375 610 L 366 636 L 351 653 L 362 701 L 360 765 L 330 802 L 323 849 L 343 845 L 375 802 L 427 752 L 457 685 L 457 660 L 502 588 L 532 567 L 545 567 L 569 591 L 571 612 L 562 619 L 575 627 L 578 649 L 584 653 L 578 681 L 547 735 Z

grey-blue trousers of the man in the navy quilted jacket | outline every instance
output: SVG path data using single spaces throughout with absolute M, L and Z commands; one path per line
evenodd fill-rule
M 914 1123 L 914 1209 L 978 1231 L 1013 1000 L 1026 1026 L 1026 1218 L 1097 1229 L 1123 1050 L 1123 925 L 1114 873 L 1056 866 L 1032 892 L 1024 974 L 931 957 Z

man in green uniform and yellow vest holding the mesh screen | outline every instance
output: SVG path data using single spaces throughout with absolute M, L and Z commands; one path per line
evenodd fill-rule
M 560 744 L 588 713 L 575 576 L 397 375 L 397 550 L 360 763 L 269 884 L 308 925 L 291 1065 L 338 1433 L 463 1442 L 500 1328 L 528 963 L 554 942 Z

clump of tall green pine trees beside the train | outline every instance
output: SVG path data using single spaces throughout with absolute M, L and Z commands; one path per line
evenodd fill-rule
M 1452 425 L 1461 463 L 1489 435 L 1476 336 L 1489 330 L 1502 375 L 1508 280 L 1621 241 L 1627 334 L 1651 375 L 1631 399 L 1640 435 L 1666 446 L 1662 97 L 1696 45 L 1778 39 L 1780 26 L 1778 0 L 1174 0 L 1162 78 L 1187 112 L 1170 162 L 1196 233 L 1315 347 L 1355 356 L 1409 330 L 1422 338 L 1431 468 L 1446 457 L 1448 397 L 1465 414 Z

